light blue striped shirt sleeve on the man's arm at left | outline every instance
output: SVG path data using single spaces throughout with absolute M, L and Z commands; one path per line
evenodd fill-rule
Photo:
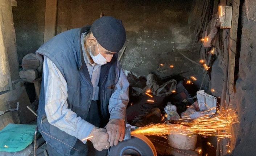
M 77 117 L 77 114 L 68 108 L 66 80 L 55 64 L 47 57 L 44 57 L 43 69 L 45 112 L 48 122 L 79 140 L 86 138 L 95 126 Z M 86 143 L 86 140 L 83 143 Z

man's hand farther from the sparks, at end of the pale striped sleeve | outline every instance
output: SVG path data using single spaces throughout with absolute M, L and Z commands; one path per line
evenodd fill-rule
M 108 149 L 110 147 L 106 129 L 94 127 L 89 136 L 93 136 L 88 140 L 92 142 L 94 148 L 98 151 L 102 151 L 102 149 Z

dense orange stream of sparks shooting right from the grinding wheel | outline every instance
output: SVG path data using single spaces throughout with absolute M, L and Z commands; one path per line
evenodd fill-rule
M 193 134 L 199 134 L 205 137 L 218 136 L 218 138 L 231 138 L 231 133 L 227 132 L 227 130 L 231 124 L 237 123 L 234 121 L 236 117 L 235 110 L 223 109 L 219 115 L 211 118 L 208 118 L 208 115 L 203 115 L 192 122 L 184 122 L 180 119 L 176 124 L 150 124 L 132 131 L 131 134 L 156 136 L 164 136 L 168 134 L 182 134 L 190 136 Z

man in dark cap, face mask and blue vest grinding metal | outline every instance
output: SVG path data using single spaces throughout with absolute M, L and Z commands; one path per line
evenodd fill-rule
M 129 83 L 117 54 L 125 39 L 121 21 L 104 16 L 36 51 L 44 57 L 37 121 L 50 156 L 104 156 L 123 140 Z

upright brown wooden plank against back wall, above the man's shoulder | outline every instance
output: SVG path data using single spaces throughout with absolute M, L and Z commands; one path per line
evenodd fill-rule
M 58 0 L 46 0 L 44 43 L 55 35 Z

